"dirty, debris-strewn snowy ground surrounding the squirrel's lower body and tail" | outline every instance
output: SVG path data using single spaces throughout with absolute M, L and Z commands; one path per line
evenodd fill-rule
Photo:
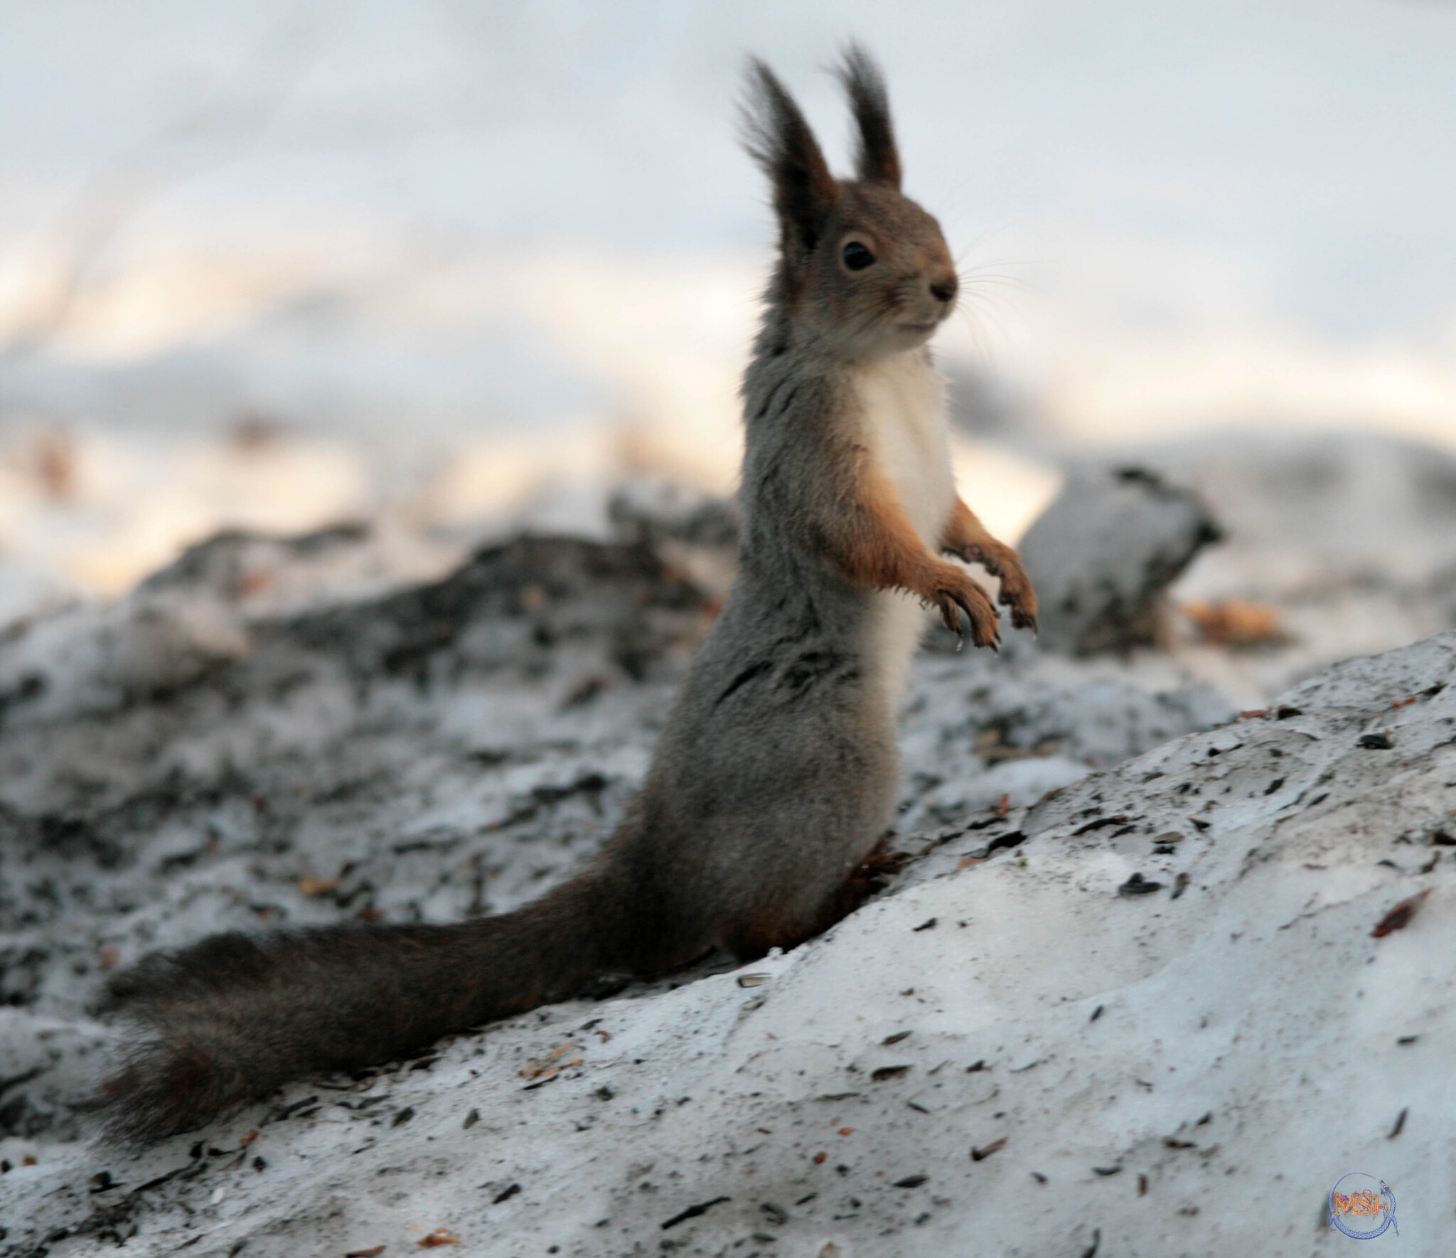
M 233 606 L 245 646 L 157 687 L 63 649 L 84 609 L 0 645 L 42 679 L 0 731 L 0 1254 L 1309 1255 L 1348 1243 L 1348 1171 L 1443 1252 L 1452 633 L 1242 718 L 1147 661 L 923 657 L 913 859 L 827 935 L 140 1156 L 89 1139 L 103 968 L 540 894 L 641 780 L 711 612 L 646 542 L 517 539 L 384 597 Z

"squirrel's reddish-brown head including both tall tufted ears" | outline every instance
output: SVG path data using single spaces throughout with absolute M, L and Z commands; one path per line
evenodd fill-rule
M 748 63 L 744 146 L 773 188 L 779 264 L 769 290 L 795 335 L 856 361 L 925 344 L 958 281 L 935 221 L 900 192 L 879 68 L 850 44 L 836 67 L 855 115 L 855 179 L 830 175 L 804 114 L 775 73 Z

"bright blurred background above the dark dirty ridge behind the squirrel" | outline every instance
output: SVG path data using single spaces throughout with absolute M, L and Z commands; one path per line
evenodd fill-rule
M 773 239 L 743 58 L 843 167 L 823 71 L 850 35 L 967 277 L 938 348 L 993 529 L 1088 451 L 1162 450 L 1302 523 L 1296 568 L 1386 508 L 1408 527 L 1369 565 L 1430 531 L 1453 4 L 9 0 L 0 33 L 0 622 L 221 527 L 368 520 L 395 579 L 523 521 L 590 531 L 625 476 L 729 491 Z M 1326 435 L 1324 507 L 1248 497 L 1261 451 L 1307 472 Z

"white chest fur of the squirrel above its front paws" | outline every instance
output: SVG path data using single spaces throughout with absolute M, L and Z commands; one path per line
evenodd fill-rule
M 916 533 L 933 550 L 955 502 L 945 379 L 919 349 L 859 368 L 865 444 Z

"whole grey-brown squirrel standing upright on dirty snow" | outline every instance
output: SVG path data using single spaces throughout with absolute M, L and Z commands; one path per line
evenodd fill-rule
M 772 185 L 779 253 L 741 390 L 738 571 L 617 830 L 510 913 L 230 932 L 144 957 L 98 1000 L 138 1032 L 100 1085 L 111 1139 L 154 1143 L 604 977 L 791 948 L 865 898 L 922 606 L 957 635 L 964 616 L 977 646 L 1000 642 L 990 596 L 941 553 L 999 577 L 1016 628 L 1035 629 L 1037 598 L 951 473 L 926 345 L 955 306 L 951 253 L 900 192 L 878 67 L 850 45 L 837 76 L 853 179 L 830 175 L 794 98 L 748 63 L 744 143 Z

